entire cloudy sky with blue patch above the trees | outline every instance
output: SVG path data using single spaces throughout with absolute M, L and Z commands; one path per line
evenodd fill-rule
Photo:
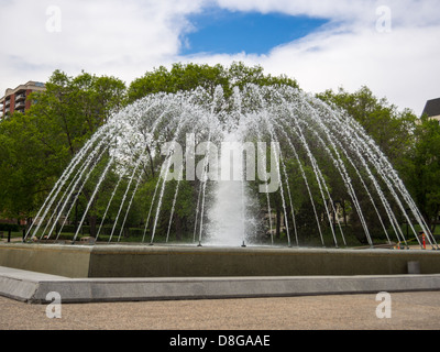
M 309 92 L 440 97 L 439 0 L 0 0 L 0 96 L 55 69 L 130 82 L 174 63 L 260 65 Z

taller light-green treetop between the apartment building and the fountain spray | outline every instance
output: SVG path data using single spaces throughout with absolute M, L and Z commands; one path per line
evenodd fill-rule
M 108 117 L 125 105 L 125 85 L 113 77 L 54 72 L 46 90 L 32 95 L 28 112 L 40 131 L 74 156 Z

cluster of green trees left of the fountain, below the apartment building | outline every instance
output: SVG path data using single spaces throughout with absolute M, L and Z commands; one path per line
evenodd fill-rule
M 25 114 L 0 123 L 0 211 L 32 217 L 72 157 L 125 105 L 125 85 L 113 77 L 55 70 L 33 94 Z

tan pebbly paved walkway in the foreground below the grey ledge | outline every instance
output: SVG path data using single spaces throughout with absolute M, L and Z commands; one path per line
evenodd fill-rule
M 47 306 L 0 297 L 0 330 L 439 330 L 440 293 L 392 294 L 378 319 L 376 295 Z

